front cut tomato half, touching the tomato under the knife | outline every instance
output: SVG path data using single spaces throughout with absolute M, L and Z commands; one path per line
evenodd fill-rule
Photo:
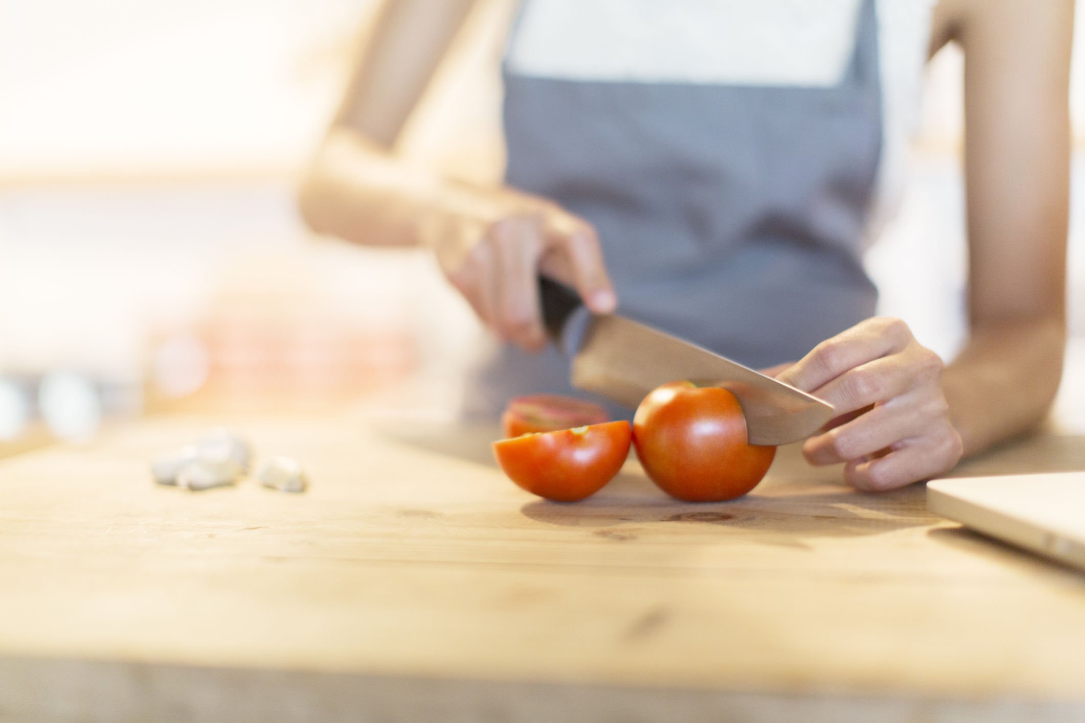
M 625 463 L 628 422 L 523 435 L 494 442 L 494 456 L 519 487 L 556 502 L 575 502 L 602 489 Z

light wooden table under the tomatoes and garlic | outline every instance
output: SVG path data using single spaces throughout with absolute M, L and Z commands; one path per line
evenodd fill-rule
M 535 500 L 488 429 L 250 419 L 304 495 L 154 486 L 207 418 L 0 463 L 0 721 L 1082 721 L 1085 574 L 781 450 Z M 1085 469 L 1042 435 L 959 474 Z

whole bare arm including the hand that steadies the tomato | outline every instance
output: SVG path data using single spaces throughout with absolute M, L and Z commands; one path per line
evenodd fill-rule
M 943 0 L 934 49 L 965 48 L 970 336 L 947 367 L 871 319 L 779 378 L 841 413 L 803 444 L 866 490 L 950 469 L 1047 413 L 1065 344 L 1072 0 Z M 922 281 L 916 280 L 917 288 Z

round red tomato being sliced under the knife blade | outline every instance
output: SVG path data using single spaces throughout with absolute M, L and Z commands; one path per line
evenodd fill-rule
M 775 447 L 748 443 L 745 416 L 727 389 L 672 382 L 644 397 L 633 418 L 640 464 L 653 482 L 686 502 L 742 496 L 761 481 Z

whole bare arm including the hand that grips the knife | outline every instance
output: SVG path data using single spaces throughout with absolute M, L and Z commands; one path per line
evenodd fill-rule
M 475 0 L 386 0 L 331 130 L 302 183 L 317 232 L 361 244 L 422 245 L 482 321 L 529 349 L 545 344 L 537 274 L 614 309 L 595 230 L 557 204 L 477 188 L 403 163 L 395 141 Z

